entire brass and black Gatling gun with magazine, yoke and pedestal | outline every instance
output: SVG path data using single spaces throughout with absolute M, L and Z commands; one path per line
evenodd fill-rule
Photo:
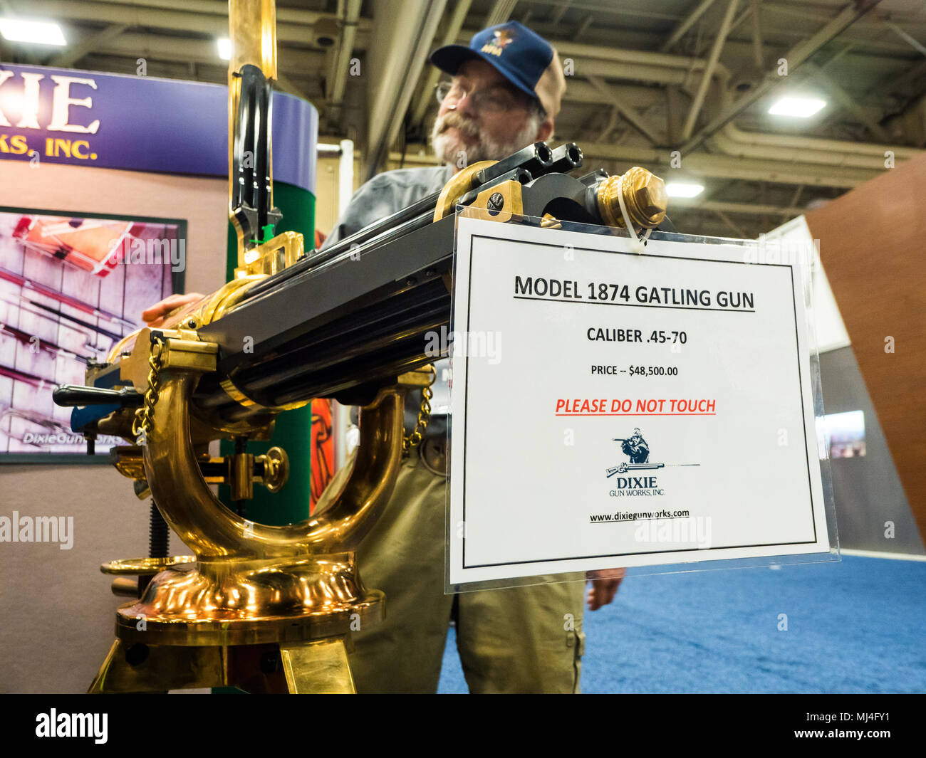
M 640 228 L 669 223 L 663 182 L 645 169 L 575 179 L 576 144 L 536 143 L 458 171 L 441 193 L 323 251 L 304 254 L 294 232 L 257 242 L 279 218 L 270 179 L 273 4 L 232 0 L 231 14 L 235 278 L 162 328 L 119 342 L 106 363 L 88 367 L 86 386 L 56 390 L 57 403 L 81 406 L 72 423 L 88 444 L 97 433 L 131 442 L 114 449 L 115 466 L 139 497 L 150 492 L 193 552 L 104 565 L 138 575 L 138 592 L 117 612 L 117 640 L 91 691 L 353 691 L 351 622 L 367 628 L 384 613 L 354 552 L 394 487 L 405 394 L 432 377 L 426 335 L 449 328 L 456 206 L 550 226 L 623 227 L 625 216 Z M 354 465 L 338 472 L 314 516 L 268 526 L 221 503 L 210 483 L 230 484 L 234 500 L 249 498 L 255 483 L 282 487 L 286 455 L 256 457 L 244 441 L 268 440 L 278 414 L 316 397 L 362 409 Z M 210 457 L 209 442 L 220 439 L 236 441 L 235 454 Z M 127 578 L 119 583 L 124 589 Z

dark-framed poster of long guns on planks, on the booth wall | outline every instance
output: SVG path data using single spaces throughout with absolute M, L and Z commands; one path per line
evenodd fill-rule
M 108 462 L 121 441 L 86 455 L 52 391 L 182 292 L 186 255 L 181 219 L 0 207 L 0 463 Z

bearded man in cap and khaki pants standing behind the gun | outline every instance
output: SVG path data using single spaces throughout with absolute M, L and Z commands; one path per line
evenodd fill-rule
M 553 135 L 566 81 L 556 51 L 533 31 L 511 21 L 479 32 L 468 47 L 440 48 L 431 60 L 453 77 L 442 85 L 432 130 L 434 151 L 445 165 L 388 171 L 369 180 L 327 244 L 439 192 L 471 163 L 506 157 Z M 166 301 L 169 307 L 178 304 Z M 144 316 L 160 316 L 165 308 L 158 306 Z M 419 404 L 420 393 L 409 393 L 407 431 L 415 426 Z M 385 591 L 387 608 L 382 625 L 354 635 L 350 664 L 357 690 L 435 691 L 453 617 L 470 691 L 577 692 L 584 647 L 582 575 L 570 575 L 569 582 L 444 594 L 445 429 L 445 418 L 432 416 L 424 440 L 403 462 L 382 517 L 357 551 L 360 576 Z M 588 594 L 591 610 L 611 602 L 620 576 L 619 570 L 590 574 L 597 579 Z

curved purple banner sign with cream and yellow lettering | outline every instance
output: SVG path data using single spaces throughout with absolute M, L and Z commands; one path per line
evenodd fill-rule
M 315 192 L 318 112 L 273 93 L 273 178 Z M 228 88 L 0 64 L 0 158 L 228 176 Z

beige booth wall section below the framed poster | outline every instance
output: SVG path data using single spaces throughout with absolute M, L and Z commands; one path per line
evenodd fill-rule
M 0 692 L 84 692 L 116 639 L 112 577 L 99 566 L 148 554 L 150 501 L 112 466 L 4 466 L 10 516 L 72 516 L 73 546 L 0 544 Z M 186 552 L 171 534 L 171 554 Z

